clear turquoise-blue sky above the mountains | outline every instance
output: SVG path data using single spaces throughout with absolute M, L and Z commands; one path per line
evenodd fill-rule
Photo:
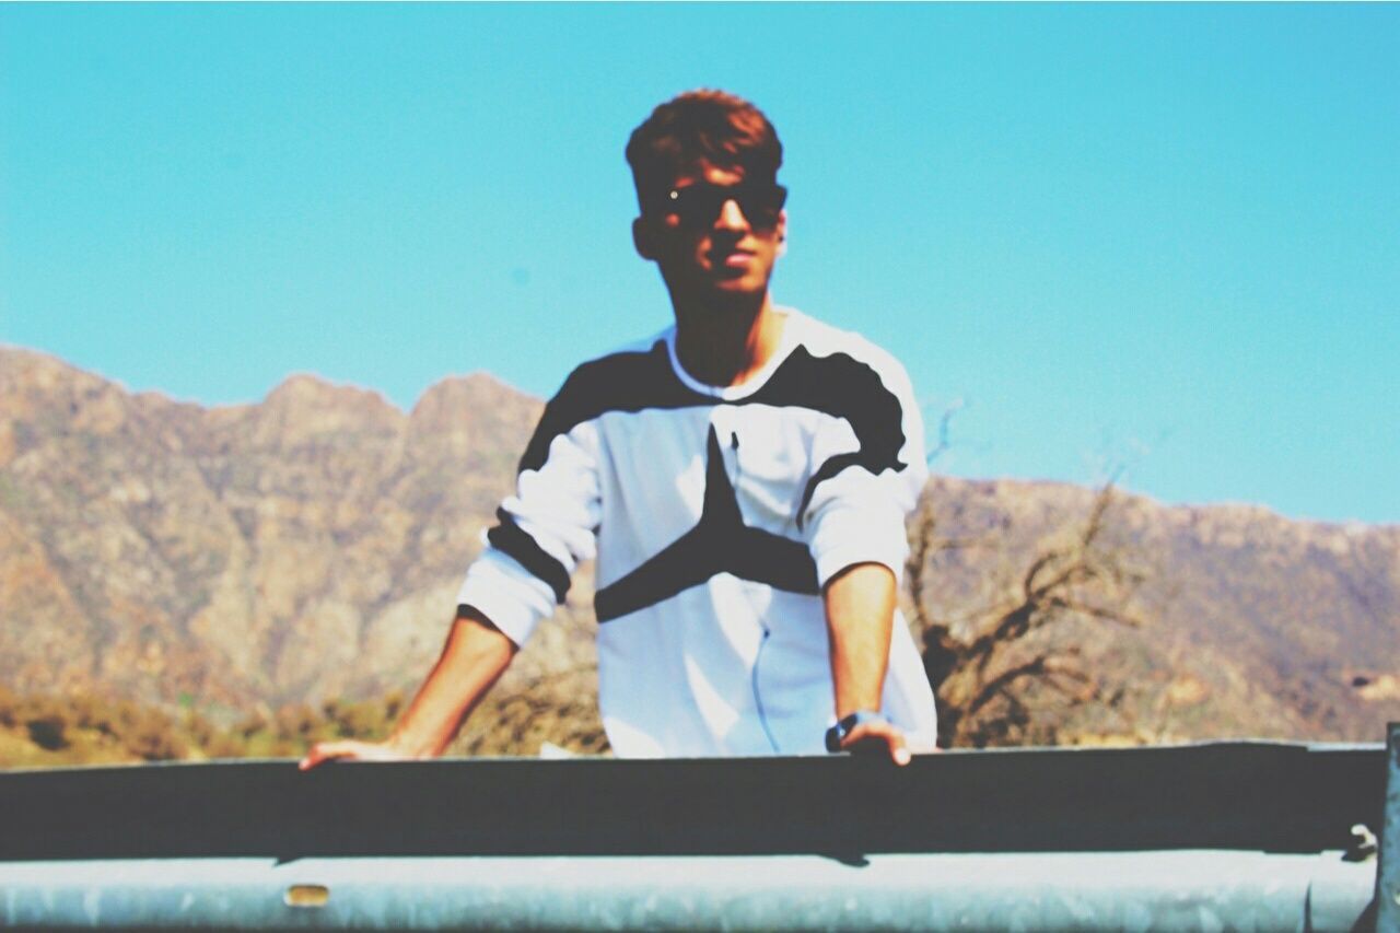
M 787 146 L 774 296 L 938 464 L 1400 521 L 1397 6 L 3 6 L 0 342 L 133 389 L 549 395 L 665 326 L 627 134 Z

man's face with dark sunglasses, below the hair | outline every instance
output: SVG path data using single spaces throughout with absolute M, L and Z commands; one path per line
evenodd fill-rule
M 657 261 L 673 294 L 762 296 L 787 227 L 778 192 L 745 184 L 742 170 L 701 163 L 633 224 L 637 252 Z

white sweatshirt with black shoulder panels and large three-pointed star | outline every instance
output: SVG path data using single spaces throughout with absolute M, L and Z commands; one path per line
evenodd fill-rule
M 792 310 L 769 364 L 717 388 L 675 328 L 580 366 L 458 602 L 517 644 L 596 555 L 599 709 L 620 756 L 823 752 L 834 720 L 822 586 L 902 574 L 927 478 L 909 377 Z M 896 615 L 883 713 L 932 747 L 934 698 Z

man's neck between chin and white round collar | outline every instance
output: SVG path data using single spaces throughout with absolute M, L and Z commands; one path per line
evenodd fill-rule
M 753 378 L 783 342 L 784 315 L 767 291 L 762 301 L 699 305 L 675 301 L 676 357 L 706 385 L 742 385 Z

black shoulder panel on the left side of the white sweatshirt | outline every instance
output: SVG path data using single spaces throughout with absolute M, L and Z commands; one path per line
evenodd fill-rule
M 556 437 L 606 412 L 693 405 L 714 405 L 714 399 L 686 388 L 676 378 L 664 340 L 657 340 L 650 350 L 613 353 L 584 363 L 545 406 L 519 469 L 539 469 Z

